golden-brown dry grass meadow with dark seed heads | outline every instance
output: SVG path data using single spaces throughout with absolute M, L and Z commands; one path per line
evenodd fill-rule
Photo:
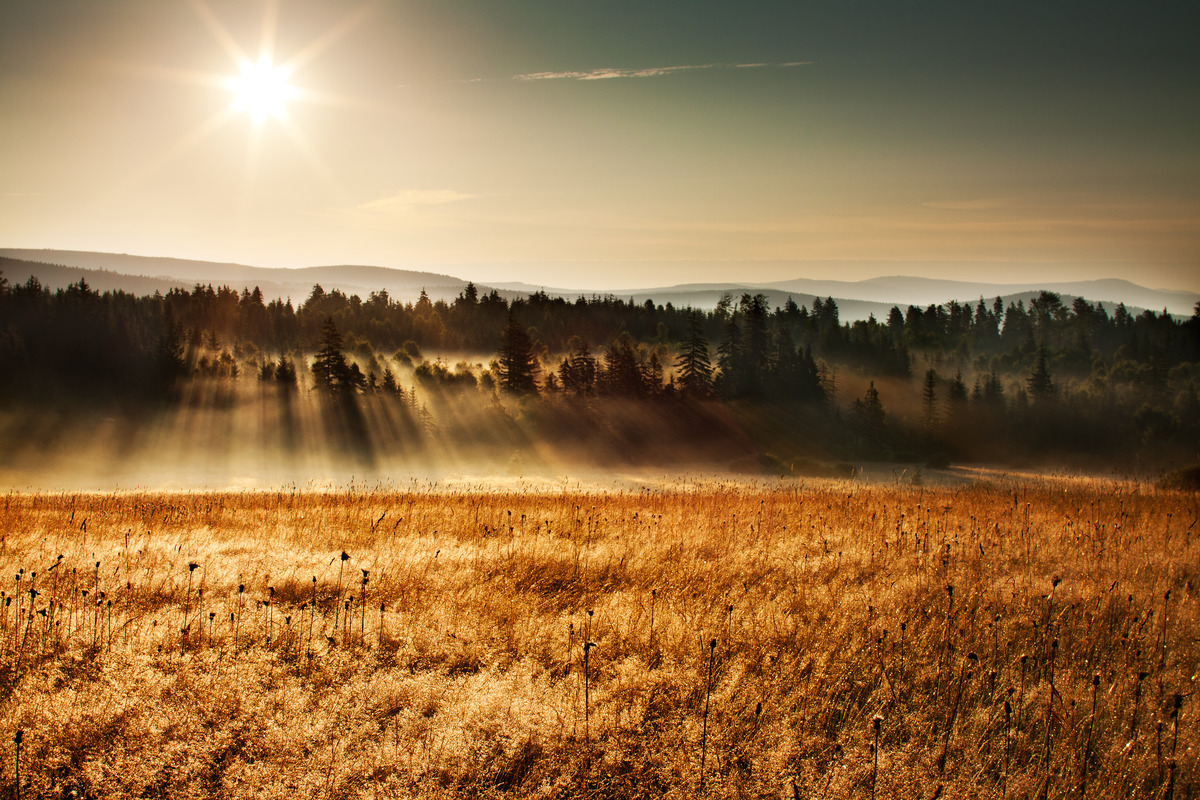
M 1200 795 L 1195 494 L 2 501 L 0 796 Z

